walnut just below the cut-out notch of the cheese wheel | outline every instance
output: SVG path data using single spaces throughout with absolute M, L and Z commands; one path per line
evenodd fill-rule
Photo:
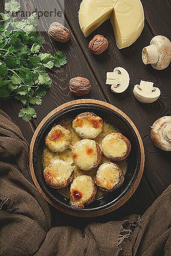
M 99 55 L 107 49 L 108 41 L 102 35 L 95 35 L 88 47 L 93 54 Z

